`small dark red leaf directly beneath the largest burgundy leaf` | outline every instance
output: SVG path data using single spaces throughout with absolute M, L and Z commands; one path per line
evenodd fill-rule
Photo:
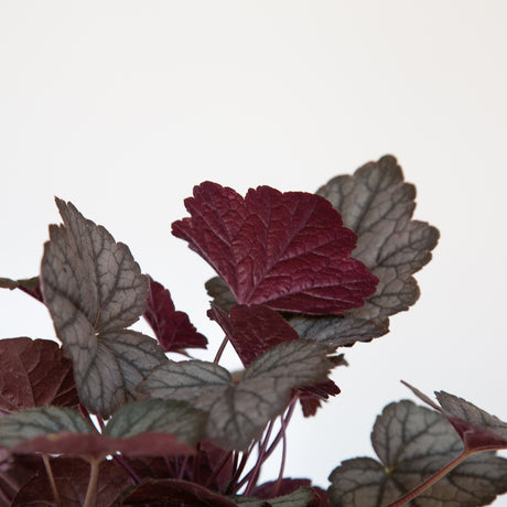
M 237 304 L 230 317 L 214 306 L 209 315 L 222 326 L 245 366 L 274 345 L 299 338 L 279 313 L 260 304 Z

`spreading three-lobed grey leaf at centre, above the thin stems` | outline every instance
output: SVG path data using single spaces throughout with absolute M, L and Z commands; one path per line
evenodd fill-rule
M 145 396 L 186 400 L 209 412 L 205 436 L 224 449 L 246 450 L 267 422 L 280 414 L 296 387 L 322 382 L 334 366 L 328 348 L 315 342 L 284 342 L 258 357 L 235 385 L 218 365 L 168 363 L 139 386 Z

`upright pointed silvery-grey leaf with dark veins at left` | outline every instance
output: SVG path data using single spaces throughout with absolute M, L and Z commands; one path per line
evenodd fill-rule
M 56 203 L 64 224 L 50 227 L 44 247 L 44 301 L 73 359 L 82 402 L 108 418 L 166 358 L 155 341 L 125 330 L 147 306 L 147 279 L 128 247 L 71 203 Z

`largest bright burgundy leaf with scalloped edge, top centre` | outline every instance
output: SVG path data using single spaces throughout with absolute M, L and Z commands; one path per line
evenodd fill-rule
M 173 224 L 226 281 L 241 304 L 343 315 L 375 292 L 377 278 L 349 258 L 356 235 L 323 197 L 205 182 L 185 201 L 191 217 Z

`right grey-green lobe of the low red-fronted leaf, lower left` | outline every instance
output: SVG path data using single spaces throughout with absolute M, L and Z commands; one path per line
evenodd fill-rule
M 104 434 L 126 439 L 148 432 L 172 433 L 194 445 L 202 436 L 207 413 L 184 401 L 147 399 L 128 403 L 108 421 Z

